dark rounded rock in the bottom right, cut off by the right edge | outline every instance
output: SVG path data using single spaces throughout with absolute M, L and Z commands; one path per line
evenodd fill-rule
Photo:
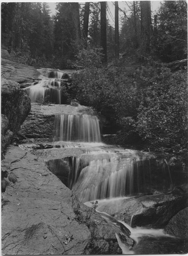
M 188 238 L 188 207 L 180 210 L 165 227 L 165 232 L 172 236 Z

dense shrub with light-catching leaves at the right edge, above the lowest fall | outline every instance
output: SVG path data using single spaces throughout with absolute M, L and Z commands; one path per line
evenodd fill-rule
M 163 70 L 143 90 L 138 108 L 136 131 L 150 146 L 160 151 L 186 151 L 187 79 L 186 73 Z

